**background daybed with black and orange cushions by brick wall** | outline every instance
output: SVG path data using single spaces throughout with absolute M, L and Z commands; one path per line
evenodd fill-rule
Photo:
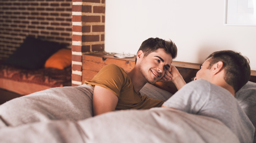
M 27 37 L 0 65 L 0 88 L 28 95 L 53 87 L 71 86 L 71 49 Z

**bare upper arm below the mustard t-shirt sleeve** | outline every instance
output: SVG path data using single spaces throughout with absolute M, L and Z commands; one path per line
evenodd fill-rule
M 115 111 L 118 98 L 110 90 L 95 86 L 93 92 L 93 114 L 94 116 L 110 111 Z

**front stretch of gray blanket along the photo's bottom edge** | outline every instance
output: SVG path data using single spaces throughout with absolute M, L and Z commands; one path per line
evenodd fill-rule
M 77 122 L 52 120 L 1 128 L 0 138 L 0 142 L 8 143 L 239 142 L 217 119 L 170 108 L 122 110 Z

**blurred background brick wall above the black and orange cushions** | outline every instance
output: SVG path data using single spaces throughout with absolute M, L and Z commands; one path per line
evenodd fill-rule
M 0 60 L 26 36 L 72 45 L 72 0 L 0 1 Z

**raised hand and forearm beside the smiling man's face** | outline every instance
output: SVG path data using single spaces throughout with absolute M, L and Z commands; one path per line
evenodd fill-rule
M 178 90 L 186 84 L 178 69 L 173 65 L 165 71 L 163 77 L 159 81 L 172 81 Z

